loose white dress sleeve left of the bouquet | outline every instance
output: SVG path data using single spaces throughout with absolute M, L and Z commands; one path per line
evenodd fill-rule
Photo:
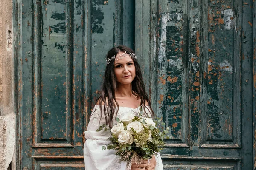
M 105 117 L 101 116 L 100 108 L 97 105 L 93 108 L 93 114 L 87 131 L 84 132 L 86 141 L 84 143 L 85 170 L 120 170 L 121 161 L 115 155 L 114 150 L 102 150 L 102 146 L 110 144 L 110 130 L 96 131 L 105 124 Z

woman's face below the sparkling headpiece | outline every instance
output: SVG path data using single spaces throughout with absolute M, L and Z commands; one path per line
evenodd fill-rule
M 124 85 L 130 84 L 134 80 L 136 75 L 135 65 L 128 54 L 119 52 L 116 55 L 114 74 L 116 81 Z

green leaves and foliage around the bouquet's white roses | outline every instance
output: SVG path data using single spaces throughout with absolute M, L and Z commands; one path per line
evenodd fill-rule
M 155 126 L 146 127 L 145 117 L 143 117 L 143 109 L 140 108 L 139 116 L 134 116 L 132 121 L 138 121 L 143 124 L 144 130 L 143 133 L 138 134 L 133 128 L 131 128 L 131 133 L 133 136 L 133 143 L 130 144 L 121 144 L 118 142 L 118 136 L 115 136 L 111 133 L 111 144 L 107 147 L 103 146 L 102 150 L 113 149 L 116 151 L 116 155 L 120 156 L 122 161 L 131 161 L 134 155 L 139 156 L 140 159 L 152 158 L 155 153 L 159 153 L 160 150 L 164 148 L 165 139 L 171 139 L 172 136 L 169 134 L 169 127 L 165 127 L 165 123 L 160 118 L 154 119 L 156 123 Z M 122 121 L 119 118 L 116 118 L 118 123 Z M 126 128 L 126 123 L 122 122 L 124 129 Z M 105 130 L 107 127 L 102 125 L 97 131 Z M 151 138 L 150 138 L 151 137 Z

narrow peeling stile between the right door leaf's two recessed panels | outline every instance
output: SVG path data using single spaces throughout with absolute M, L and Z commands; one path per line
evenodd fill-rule
M 200 0 L 190 0 L 188 1 L 189 8 L 189 32 L 188 32 L 188 45 L 189 45 L 189 61 L 188 61 L 188 85 L 189 85 L 189 125 L 190 125 L 190 143 L 191 145 L 198 145 L 198 136 L 201 121 L 201 53 L 203 51 L 201 45 L 202 32 L 201 32 L 201 19 L 202 10 L 200 9 Z

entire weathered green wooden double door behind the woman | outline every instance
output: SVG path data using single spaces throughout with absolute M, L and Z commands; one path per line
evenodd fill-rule
M 172 127 L 166 170 L 253 169 L 251 5 L 15 1 L 17 169 L 84 168 L 83 132 L 119 44 L 135 49 L 154 111 Z

